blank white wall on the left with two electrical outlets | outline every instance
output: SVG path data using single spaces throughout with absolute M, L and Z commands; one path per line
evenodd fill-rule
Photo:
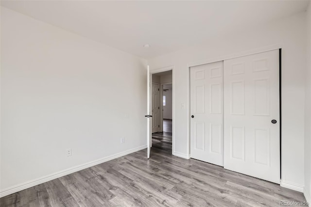
M 2 195 L 145 147 L 145 86 L 145 60 L 1 7 Z

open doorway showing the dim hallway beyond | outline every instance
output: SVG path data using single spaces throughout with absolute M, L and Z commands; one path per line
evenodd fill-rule
M 152 74 L 152 151 L 172 154 L 172 70 Z

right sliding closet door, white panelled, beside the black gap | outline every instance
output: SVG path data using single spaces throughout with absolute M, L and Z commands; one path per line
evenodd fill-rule
M 278 50 L 225 60 L 224 97 L 225 169 L 279 184 Z

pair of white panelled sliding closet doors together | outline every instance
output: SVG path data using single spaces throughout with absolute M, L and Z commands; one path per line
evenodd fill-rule
M 279 50 L 190 68 L 190 156 L 280 183 Z

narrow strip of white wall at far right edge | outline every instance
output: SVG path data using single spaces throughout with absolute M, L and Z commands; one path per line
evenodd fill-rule
M 305 104 L 305 189 L 311 206 L 311 2 L 307 10 L 307 72 Z

